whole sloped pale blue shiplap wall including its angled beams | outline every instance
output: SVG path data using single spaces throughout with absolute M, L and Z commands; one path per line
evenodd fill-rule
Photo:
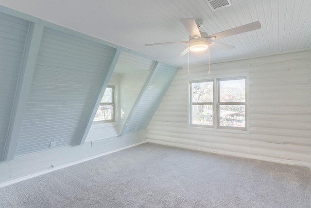
M 84 144 L 113 73 L 119 86 L 124 80 L 124 88 L 118 90 L 122 98 L 115 105 L 122 113 L 116 113 L 116 122 L 105 125 L 102 133 L 108 134 L 107 127 L 119 129 L 121 114 L 127 115 L 126 126 L 131 128 L 122 135 L 146 129 L 179 69 L 3 6 L 0 45 L 0 160 L 5 161 Z M 125 74 L 129 77 L 124 79 Z M 135 101 L 135 106 L 128 101 Z M 131 117 L 143 122 L 135 123 Z

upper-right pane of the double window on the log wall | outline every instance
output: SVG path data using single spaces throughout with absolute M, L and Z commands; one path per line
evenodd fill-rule
M 245 102 L 245 79 L 219 81 L 220 102 Z

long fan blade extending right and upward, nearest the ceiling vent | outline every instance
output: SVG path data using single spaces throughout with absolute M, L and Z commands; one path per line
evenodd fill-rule
M 207 38 L 209 38 L 211 40 L 219 39 L 219 38 L 225 38 L 225 37 L 228 37 L 228 36 L 234 36 L 234 35 L 237 35 L 237 34 L 240 34 L 240 33 L 246 33 L 246 32 L 252 31 L 252 30 L 260 29 L 260 28 L 261 28 L 260 22 L 259 21 L 255 21 L 255 22 L 252 22 L 252 23 L 249 23 L 249 24 L 242 25 L 240 27 L 232 28 L 232 29 L 220 32 L 220 33 L 216 33 L 216 34 L 210 35 Z

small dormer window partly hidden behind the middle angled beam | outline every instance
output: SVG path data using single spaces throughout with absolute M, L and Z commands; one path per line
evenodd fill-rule
M 115 120 L 115 86 L 108 86 L 93 121 L 112 122 Z

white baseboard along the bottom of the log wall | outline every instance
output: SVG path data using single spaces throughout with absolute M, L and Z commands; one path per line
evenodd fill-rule
M 159 141 L 159 140 L 148 139 L 148 138 L 147 138 L 147 142 L 155 143 L 155 144 L 161 144 L 161 145 L 167 145 L 167 146 L 173 146 L 173 147 L 180 147 L 180 148 L 185 148 L 185 149 L 190 149 L 190 150 L 206 151 L 206 152 L 210 152 L 210 153 L 213 152 L 212 150 L 214 150 L 214 149 L 207 148 L 207 147 L 198 147 L 198 146 L 194 146 L 194 145 Z M 217 150 L 216 154 L 223 154 L 223 155 L 242 157 L 242 158 L 248 158 L 248 159 L 256 159 L 256 160 L 275 162 L 275 163 L 281 163 L 281 164 L 287 164 L 287 165 L 295 165 L 295 166 L 310 168 L 310 170 L 311 170 L 310 162 L 287 160 L 287 159 L 281 159 L 281 158 L 252 155 L 252 154 L 247 154 L 247 153 L 224 151 L 224 150 Z

